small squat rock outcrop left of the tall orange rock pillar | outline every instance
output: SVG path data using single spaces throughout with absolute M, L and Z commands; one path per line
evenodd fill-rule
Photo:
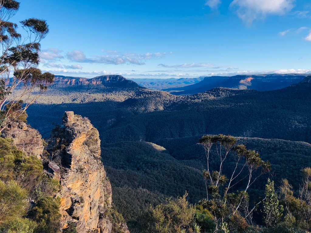
M 25 122 L 13 122 L 2 131 L 1 137 L 12 139 L 12 144 L 28 155 L 41 158 L 44 148 L 42 137 L 38 130 L 32 129 Z

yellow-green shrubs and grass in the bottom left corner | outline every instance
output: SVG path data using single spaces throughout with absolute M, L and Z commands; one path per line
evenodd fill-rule
M 0 138 L 0 232 L 58 232 L 59 206 L 50 197 L 58 190 L 55 181 L 43 174 L 41 160 Z

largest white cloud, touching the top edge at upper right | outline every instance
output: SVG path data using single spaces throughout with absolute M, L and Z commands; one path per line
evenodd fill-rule
M 233 0 L 231 7 L 238 16 L 251 24 L 254 20 L 267 14 L 282 15 L 290 11 L 295 0 Z

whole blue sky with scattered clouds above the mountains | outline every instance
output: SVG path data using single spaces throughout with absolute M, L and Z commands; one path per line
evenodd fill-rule
M 49 24 L 39 67 L 56 75 L 311 73 L 309 0 L 21 1 L 12 20 L 30 17 Z

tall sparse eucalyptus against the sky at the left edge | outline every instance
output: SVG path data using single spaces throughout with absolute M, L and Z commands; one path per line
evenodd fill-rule
M 20 3 L 0 0 L 0 132 L 17 120 L 30 104 L 52 84 L 54 75 L 41 73 L 40 41 L 48 34 L 44 20 L 21 21 L 25 36 L 10 22 Z

